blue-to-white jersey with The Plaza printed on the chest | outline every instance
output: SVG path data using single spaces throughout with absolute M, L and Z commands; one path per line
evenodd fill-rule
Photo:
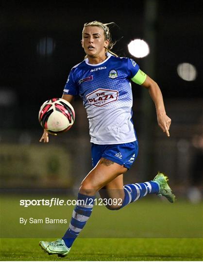
M 85 59 L 74 66 L 63 94 L 79 95 L 83 99 L 90 142 L 98 145 L 130 143 L 136 140 L 131 79 L 134 81 L 141 70 L 133 59 L 107 55 L 100 64 L 92 65 Z

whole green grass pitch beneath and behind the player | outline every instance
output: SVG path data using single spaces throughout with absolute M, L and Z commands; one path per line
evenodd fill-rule
M 19 199 L 43 197 L 48 198 L 1 196 L 1 261 L 203 261 L 202 203 L 179 199 L 171 204 L 148 196 L 119 211 L 95 205 L 68 256 L 58 258 L 38 244 L 64 235 L 73 206 L 19 205 Z M 22 225 L 20 217 L 66 218 L 68 223 Z

